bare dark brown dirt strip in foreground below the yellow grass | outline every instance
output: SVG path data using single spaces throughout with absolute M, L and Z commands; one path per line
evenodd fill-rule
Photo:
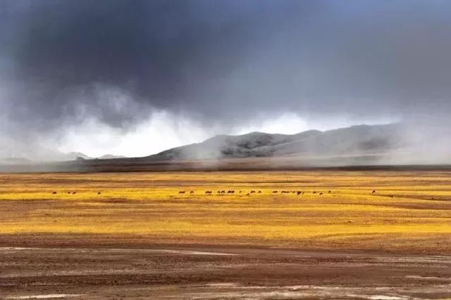
M 411 299 L 451 296 L 450 256 L 282 249 L 0 249 L 0 297 Z M 22 298 L 20 298 L 22 297 Z

